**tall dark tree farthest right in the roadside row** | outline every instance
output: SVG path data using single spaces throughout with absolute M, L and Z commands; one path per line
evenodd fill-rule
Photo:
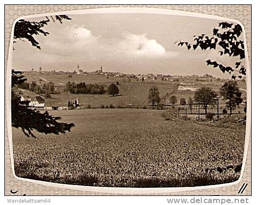
M 232 114 L 232 110 L 236 109 L 236 106 L 243 101 L 241 98 L 242 93 L 235 80 L 229 80 L 224 83 L 220 88 L 220 95 L 226 100 L 226 107 L 229 108 L 230 114 Z

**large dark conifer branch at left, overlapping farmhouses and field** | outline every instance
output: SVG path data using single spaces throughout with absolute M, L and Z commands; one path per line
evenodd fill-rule
M 20 83 L 25 82 L 26 78 L 20 71 L 12 70 L 11 75 L 11 87 L 14 88 Z M 38 132 L 45 134 L 59 134 L 70 131 L 70 128 L 74 126 L 73 123 L 59 123 L 57 120 L 60 117 L 50 116 L 46 111 L 40 113 L 35 109 L 31 109 L 29 101 L 20 101 L 20 96 L 12 89 L 11 91 L 11 126 L 21 128 L 23 133 L 30 137 L 35 137 L 31 132 L 34 129 Z

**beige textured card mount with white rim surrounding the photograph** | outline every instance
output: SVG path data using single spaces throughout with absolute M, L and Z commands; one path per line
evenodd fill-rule
M 226 185 L 212 185 L 206 187 L 183 187 L 183 188 L 111 188 L 111 187 L 89 187 L 78 185 L 61 185 L 48 182 L 40 182 L 30 179 L 21 179 L 14 176 L 12 140 L 10 132 L 10 66 L 11 59 L 11 33 L 13 23 L 21 16 L 43 14 L 49 12 L 62 12 L 85 9 L 109 8 L 110 10 L 133 10 L 147 11 L 147 8 L 166 9 L 157 12 L 165 13 L 192 11 L 187 15 L 199 15 L 200 13 L 217 15 L 211 18 L 233 19 L 233 22 L 243 24 L 243 33 L 246 36 L 245 49 L 247 44 L 246 61 L 247 69 L 247 123 L 245 155 L 241 176 L 237 182 Z M 145 9 L 143 9 L 145 8 Z M 87 10 L 86 12 L 88 12 Z M 118 11 L 118 12 L 119 12 Z M 156 10 L 152 10 L 155 12 Z M 76 12 L 76 11 L 75 11 Z M 150 13 L 152 13 L 150 12 Z M 61 14 L 61 13 L 59 13 Z M 64 14 L 64 13 L 63 13 Z M 65 12 L 69 14 L 69 12 Z M 45 16 L 45 15 L 42 15 Z M 242 27 L 243 27 L 242 26 Z M 9 59 L 8 59 L 9 57 Z M 249 70 L 249 71 L 248 71 Z M 251 195 L 251 5 L 5 5 L 5 195 Z M 9 95 L 8 95 L 9 94 Z M 7 129 L 9 127 L 9 129 Z M 9 135 L 8 135 L 9 134 Z M 243 194 L 238 194 L 244 183 L 248 184 Z M 12 194 L 10 190 L 18 190 Z

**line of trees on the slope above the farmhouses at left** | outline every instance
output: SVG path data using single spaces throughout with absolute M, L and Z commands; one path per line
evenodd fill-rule
M 25 81 L 19 84 L 18 88 L 27 89 L 39 95 L 45 94 L 45 93 L 49 93 L 49 94 L 54 93 L 54 84 L 52 82 L 49 82 L 47 84 L 44 83 L 43 85 L 38 85 L 35 81 L 33 82 Z

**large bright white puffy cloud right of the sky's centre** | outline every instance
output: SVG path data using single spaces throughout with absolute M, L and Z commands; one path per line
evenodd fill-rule
M 148 39 L 146 34 L 126 34 L 125 39 L 120 42 L 119 48 L 139 56 L 162 56 L 167 53 L 156 39 Z

